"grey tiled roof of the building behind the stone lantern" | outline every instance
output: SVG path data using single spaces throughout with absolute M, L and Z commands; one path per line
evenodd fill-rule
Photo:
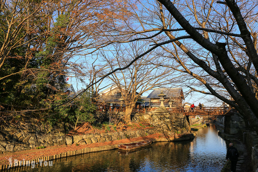
M 159 98 L 158 94 L 163 91 L 166 95 L 165 98 L 170 97 L 181 97 L 182 88 L 159 88 L 154 89 L 146 98 Z

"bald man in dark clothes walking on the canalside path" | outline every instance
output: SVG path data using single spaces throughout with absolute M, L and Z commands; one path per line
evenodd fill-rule
M 229 148 L 227 150 L 226 160 L 231 161 L 231 172 L 236 172 L 236 163 L 238 161 L 239 153 L 237 149 L 233 146 L 233 143 L 229 144 Z

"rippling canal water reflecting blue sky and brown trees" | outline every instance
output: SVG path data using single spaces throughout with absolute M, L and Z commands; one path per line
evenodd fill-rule
M 18 171 L 219 172 L 225 157 L 226 142 L 218 136 L 216 126 L 210 125 L 199 129 L 191 141 L 155 142 L 131 152 L 110 150 L 89 153 L 57 160 L 52 166 Z

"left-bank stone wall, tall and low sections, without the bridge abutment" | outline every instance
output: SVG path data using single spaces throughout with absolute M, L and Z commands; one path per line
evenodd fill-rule
M 0 131 L 0 154 L 30 150 L 38 146 L 57 146 L 66 144 L 90 144 L 124 138 L 135 138 L 154 134 L 154 129 L 94 133 L 69 136 L 65 135 L 62 125 L 51 128 L 36 120 L 19 122 L 13 126 L 3 126 Z

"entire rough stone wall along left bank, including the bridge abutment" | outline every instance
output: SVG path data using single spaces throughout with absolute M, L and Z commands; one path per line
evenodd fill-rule
M 187 130 L 190 131 L 186 116 L 180 113 L 176 114 L 159 110 L 149 114 L 139 113 L 134 115 L 134 117 L 137 119 L 140 117 L 148 119 L 154 128 L 67 135 L 63 124 L 50 126 L 39 119 L 24 118 L 23 121 L 17 121 L 16 124 L 2 126 L 0 131 L 0 155 L 31 150 L 39 146 L 50 147 L 71 145 L 73 143 L 85 145 L 148 136 L 156 132 L 164 132 L 167 133 L 166 135 L 173 136 L 175 131 L 182 134 L 185 134 Z M 100 116 L 99 118 L 102 119 L 103 117 Z

